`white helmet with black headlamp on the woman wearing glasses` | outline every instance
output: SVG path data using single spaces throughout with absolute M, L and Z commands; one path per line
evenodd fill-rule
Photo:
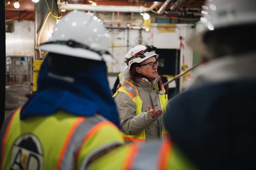
M 154 52 L 156 47 L 153 45 L 137 45 L 133 47 L 127 54 L 126 64 L 130 70 L 131 64 L 140 63 L 149 57 L 155 56 L 157 59 L 159 57 L 158 54 Z

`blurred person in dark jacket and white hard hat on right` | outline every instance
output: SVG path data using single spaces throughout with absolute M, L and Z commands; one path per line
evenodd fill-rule
M 171 140 L 200 169 L 255 169 L 256 1 L 207 0 L 188 44 L 203 64 L 171 99 Z

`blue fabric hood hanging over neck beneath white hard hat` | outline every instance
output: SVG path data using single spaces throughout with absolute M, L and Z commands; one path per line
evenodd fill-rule
M 43 61 L 38 75 L 37 91 L 23 106 L 21 119 L 30 115 L 51 115 L 57 109 L 62 109 L 79 116 L 98 113 L 120 127 L 107 80 L 106 63 L 93 61 L 85 71 L 63 76 L 49 67 L 49 54 Z

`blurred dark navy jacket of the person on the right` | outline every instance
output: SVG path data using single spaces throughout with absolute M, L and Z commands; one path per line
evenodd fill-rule
M 206 84 L 169 102 L 166 128 L 201 169 L 256 169 L 256 81 Z

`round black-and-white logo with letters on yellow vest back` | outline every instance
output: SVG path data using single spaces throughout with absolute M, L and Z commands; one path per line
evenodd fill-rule
M 19 136 L 11 149 L 10 169 L 43 169 L 43 147 L 34 134 Z

